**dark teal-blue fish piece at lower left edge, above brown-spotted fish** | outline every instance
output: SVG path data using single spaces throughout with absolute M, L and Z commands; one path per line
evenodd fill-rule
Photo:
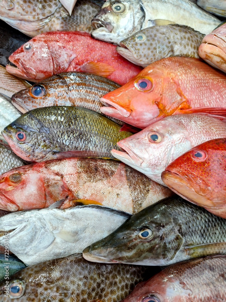
M 6 258 L 7 260 L 5 260 Z M 27 265 L 16 256 L 8 256 L 6 258 L 5 255 L 0 255 L 0 281 L 7 280 L 5 276 L 11 277 L 17 271 L 21 271 L 21 269 L 27 267 Z

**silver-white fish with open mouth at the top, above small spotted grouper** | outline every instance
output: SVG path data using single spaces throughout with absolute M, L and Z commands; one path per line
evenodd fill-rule
M 91 23 L 92 37 L 120 45 L 137 31 L 154 25 L 183 24 L 209 34 L 221 21 L 189 0 L 108 0 Z

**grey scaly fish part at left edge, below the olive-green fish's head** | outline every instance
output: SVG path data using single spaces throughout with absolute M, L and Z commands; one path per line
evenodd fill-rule
M 0 143 L 0 174 L 23 165 L 26 165 L 26 162 L 13 153 L 10 147 Z

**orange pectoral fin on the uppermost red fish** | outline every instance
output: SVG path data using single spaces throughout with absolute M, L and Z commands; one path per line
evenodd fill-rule
M 82 72 L 88 72 L 95 74 L 97 76 L 110 76 L 114 71 L 115 68 L 106 64 L 106 63 L 95 63 L 95 62 L 89 62 L 86 63 L 79 68 Z

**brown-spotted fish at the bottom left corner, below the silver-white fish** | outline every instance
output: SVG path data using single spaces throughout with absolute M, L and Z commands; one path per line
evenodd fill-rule
M 17 272 L 0 283 L 1 302 L 119 302 L 159 271 L 144 266 L 89 263 L 81 254 L 49 260 Z M 15 293 L 14 288 L 20 289 Z M 8 289 L 8 293 L 7 293 Z M 5 292 L 6 291 L 6 292 Z

